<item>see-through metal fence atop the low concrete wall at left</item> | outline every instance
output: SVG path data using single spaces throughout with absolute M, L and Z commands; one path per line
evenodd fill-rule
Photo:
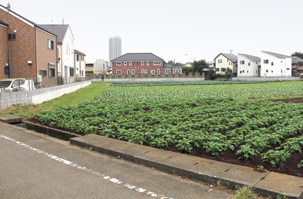
M 0 92 L 30 91 L 91 80 L 90 77 L 0 79 Z

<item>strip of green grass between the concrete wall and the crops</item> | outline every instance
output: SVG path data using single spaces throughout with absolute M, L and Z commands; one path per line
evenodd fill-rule
M 79 104 L 79 102 L 85 102 L 94 100 L 101 92 L 105 91 L 110 86 L 107 82 L 92 82 L 90 86 L 87 86 L 78 91 L 74 91 L 69 94 L 65 94 L 54 100 L 43 102 L 42 104 L 17 104 L 10 108 L 0 110 L 1 114 L 12 114 L 23 117 L 24 120 L 28 120 L 31 117 L 38 115 L 41 110 L 49 110 L 59 106 L 72 106 Z

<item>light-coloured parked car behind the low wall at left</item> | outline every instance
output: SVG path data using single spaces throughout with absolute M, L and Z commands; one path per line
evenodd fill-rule
M 0 80 L 0 92 L 34 90 L 34 82 L 22 78 Z

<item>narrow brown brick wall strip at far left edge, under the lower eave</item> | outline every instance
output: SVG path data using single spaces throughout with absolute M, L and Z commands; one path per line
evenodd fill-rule
M 4 74 L 4 67 L 8 63 L 8 27 L 0 25 L 0 78 L 8 78 Z

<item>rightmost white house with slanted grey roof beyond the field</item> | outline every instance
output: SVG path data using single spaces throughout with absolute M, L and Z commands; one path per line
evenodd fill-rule
M 261 71 L 263 77 L 291 77 L 291 56 L 269 51 L 261 51 Z

